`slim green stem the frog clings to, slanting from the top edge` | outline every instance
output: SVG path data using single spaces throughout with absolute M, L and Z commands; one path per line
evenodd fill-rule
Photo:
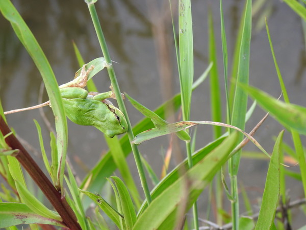
M 92 1 L 92 2 L 94 2 L 94 1 Z M 91 15 L 91 19 L 92 19 L 92 22 L 93 22 L 93 25 L 94 25 L 94 28 L 95 28 L 95 31 L 96 31 L 96 34 L 97 34 L 97 37 L 98 37 L 98 40 L 99 40 L 99 43 L 100 43 L 101 50 L 103 52 L 105 60 L 107 61 L 107 63 L 109 63 L 109 66 L 107 67 L 107 71 L 108 71 L 108 74 L 109 74 L 109 77 L 110 77 L 110 80 L 111 80 L 111 83 L 112 83 L 112 86 L 113 86 L 113 89 L 114 89 L 114 92 L 115 92 L 115 95 L 116 95 L 116 99 L 117 99 L 119 109 L 123 112 L 123 114 L 126 118 L 126 121 L 127 121 L 127 125 L 129 126 L 129 128 L 127 129 L 127 135 L 129 136 L 130 142 L 132 142 L 132 140 L 134 139 L 132 125 L 131 125 L 129 116 L 127 114 L 123 99 L 121 97 L 121 91 L 120 91 L 120 88 L 119 88 L 119 85 L 118 85 L 118 82 L 117 82 L 117 78 L 116 78 L 115 71 L 114 71 L 114 68 L 113 68 L 113 65 L 112 65 L 112 60 L 110 58 L 110 54 L 109 54 L 109 51 L 108 51 L 108 48 L 107 48 L 105 37 L 104 37 L 103 31 L 101 29 L 101 25 L 100 25 L 100 22 L 99 22 L 99 19 L 98 19 L 98 15 L 97 15 L 95 6 L 92 2 L 86 1 L 87 5 L 88 5 L 89 12 L 90 12 L 90 15 Z M 144 195 L 146 197 L 147 203 L 149 204 L 152 199 L 151 199 L 151 195 L 150 195 L 149 188 L 148 188 L 148 185 L 147 185 L 147 181 L 146 181 L 145 173 L 144 173 L 144 170 L 143 170 L 143 166 L 142 166 L 142 163 L 141 163 L 140 152 L 139 152 L 139 150 L 138 150 L 138 148 L 135 144 L 131 144 L 131 147 L 132 147 L 132 151 L 133 151 L 133 154 L 134 154 L 134 159 L 135 159 L 135 163 L 136 163 L 137 170 L 138 170 L 138 173 L 139 173 L 139 177 L 140 177 L 141 185 L 142 185 L 142 188 L 143 188 L 143 191 L 144 191 Z

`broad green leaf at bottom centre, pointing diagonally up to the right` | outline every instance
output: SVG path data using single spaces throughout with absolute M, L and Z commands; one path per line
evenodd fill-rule
M 215 173 L 226 162 L 228 154 L 237 142 L 237 137 L 237 133 L 233 133 L 219 147 L 189 169 L 185 175 L 181 175 L 179 179 L 163 190 L 138 216 L 133 229 L 174 229 L 177 223 L 176 211 L 183 197 L 187 198 L 186 211 L 188 211 Z M 188 194 L 182 192 L 186 176 L 189 179 Z

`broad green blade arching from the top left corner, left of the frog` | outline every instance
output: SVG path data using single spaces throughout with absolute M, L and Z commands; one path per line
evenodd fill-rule
M 62 187 L 67 151 L 67 121 L 58 83 L 38 42 L 15 7 L 9 0 L 3 0 L 0 4 L 0 10 L 4 17 L 11 22 L 17 37 L 35 62 L 44 81 L 50 103 L 52 104 L 54 116 L 57 118 L 55 120 L 57 130 L 57 148 L 59 154 L 57 187 Z

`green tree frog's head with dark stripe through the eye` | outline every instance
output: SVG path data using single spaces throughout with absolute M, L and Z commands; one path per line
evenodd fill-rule
M 127 122 L 123 113 L 117 107 L 106 104 L 111 111 L 108 116 L 108 129 L 104 132 L 108 137 L 114 137 L 127 132 Z

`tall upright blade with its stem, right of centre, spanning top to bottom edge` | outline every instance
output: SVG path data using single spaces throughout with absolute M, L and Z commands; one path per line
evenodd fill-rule
M 249 57 L 250 57 L 250 40 L 251 40 L 251 9 L 252 2 L 246 0 L 246 9 L 243 17 L 243 30 L 241 36 L 241 45 L 239 52 L 238 61 L 238 72 L 237 82 L 234 97 L 234 105 L 232 111 L 232 122 L 233 126 L 236 126 L 242 130 L 245 127 L 245 114 L 247 108 L 247 94 L 237 84 L 243 83 L 248 84 L 249 78 Z M 239 134 L 239 142 L 243 139 L 242 134 Z M 237 173 L 239 169 L 241 151 L 235 154 L 228 161 L 228 173 L 231 179 L 231 193 L 234 197 L 232 201 L 232 222 L 233 228 L 239 229 L 239 198 L 238 198 L 238 184 L 237 184 Z

